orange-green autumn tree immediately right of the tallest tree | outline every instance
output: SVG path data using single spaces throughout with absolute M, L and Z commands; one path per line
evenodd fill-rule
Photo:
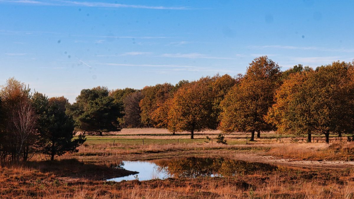
M 307 134 L 307 141 L 311 142 L 311 133 L 315 130 L 315 120 L 312 115 L 312 89 L 304 87 L 309 76 L 314 71 L 290 74 L 276 91 L 275 103 L 269 109 L 265 120 L 277 127 L 281 134 L 302 136 Z

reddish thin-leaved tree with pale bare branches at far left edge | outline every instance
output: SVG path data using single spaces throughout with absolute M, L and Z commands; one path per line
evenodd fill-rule
M 1 86 L 2 159 L 27 160 L 36 142 L 36 114 L 30 103 L 29 88 L 15 78 Z

